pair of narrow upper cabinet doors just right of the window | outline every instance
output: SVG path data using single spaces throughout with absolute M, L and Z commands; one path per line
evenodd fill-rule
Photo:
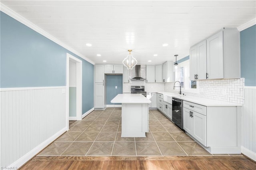
M 190 80 L 206 79 L 206 40 L 190 48 Z

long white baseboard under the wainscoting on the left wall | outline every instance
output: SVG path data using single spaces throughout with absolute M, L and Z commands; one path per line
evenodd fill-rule
M 22 156 L 20 159 L 16 160 L 14 163 L 10 164 L 8 167 L 17 167 L 20 168 L 23 164 L 25 164 L 28 160 L 33 158 L 38 152 L 40 152 L 42 149 L 44 149 L 48 144 L 50 144 L 52 141 L 54 141 L 56 138 L 58 138 L 61 134 L 66 132 L 66 127 L 62 128 L 60 131 L 52 135 L 50 138 L 36 146 L 34 149 L 30 150 L 27 154 Z

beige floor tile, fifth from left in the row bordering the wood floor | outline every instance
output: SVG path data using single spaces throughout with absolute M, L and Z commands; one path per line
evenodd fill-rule
M 158 149 L 156 142 L 135 142 L 138 156 L 160 156 L 161 152 Z

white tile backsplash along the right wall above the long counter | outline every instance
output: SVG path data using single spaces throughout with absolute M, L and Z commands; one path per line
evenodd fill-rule
M 220 79 L 220 80 L 198 80 L 199 93 L 185 93 L 196 97 L 228 101 L 244 104 L 244 78 Z M 174 92 L 174 83 L 165 83 L 164 91 Z

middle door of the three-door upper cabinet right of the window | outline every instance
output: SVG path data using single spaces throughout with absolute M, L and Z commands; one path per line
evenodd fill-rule
M 206 40 L 197 44 L 197 74 L 198 80 L 206 79 Z

